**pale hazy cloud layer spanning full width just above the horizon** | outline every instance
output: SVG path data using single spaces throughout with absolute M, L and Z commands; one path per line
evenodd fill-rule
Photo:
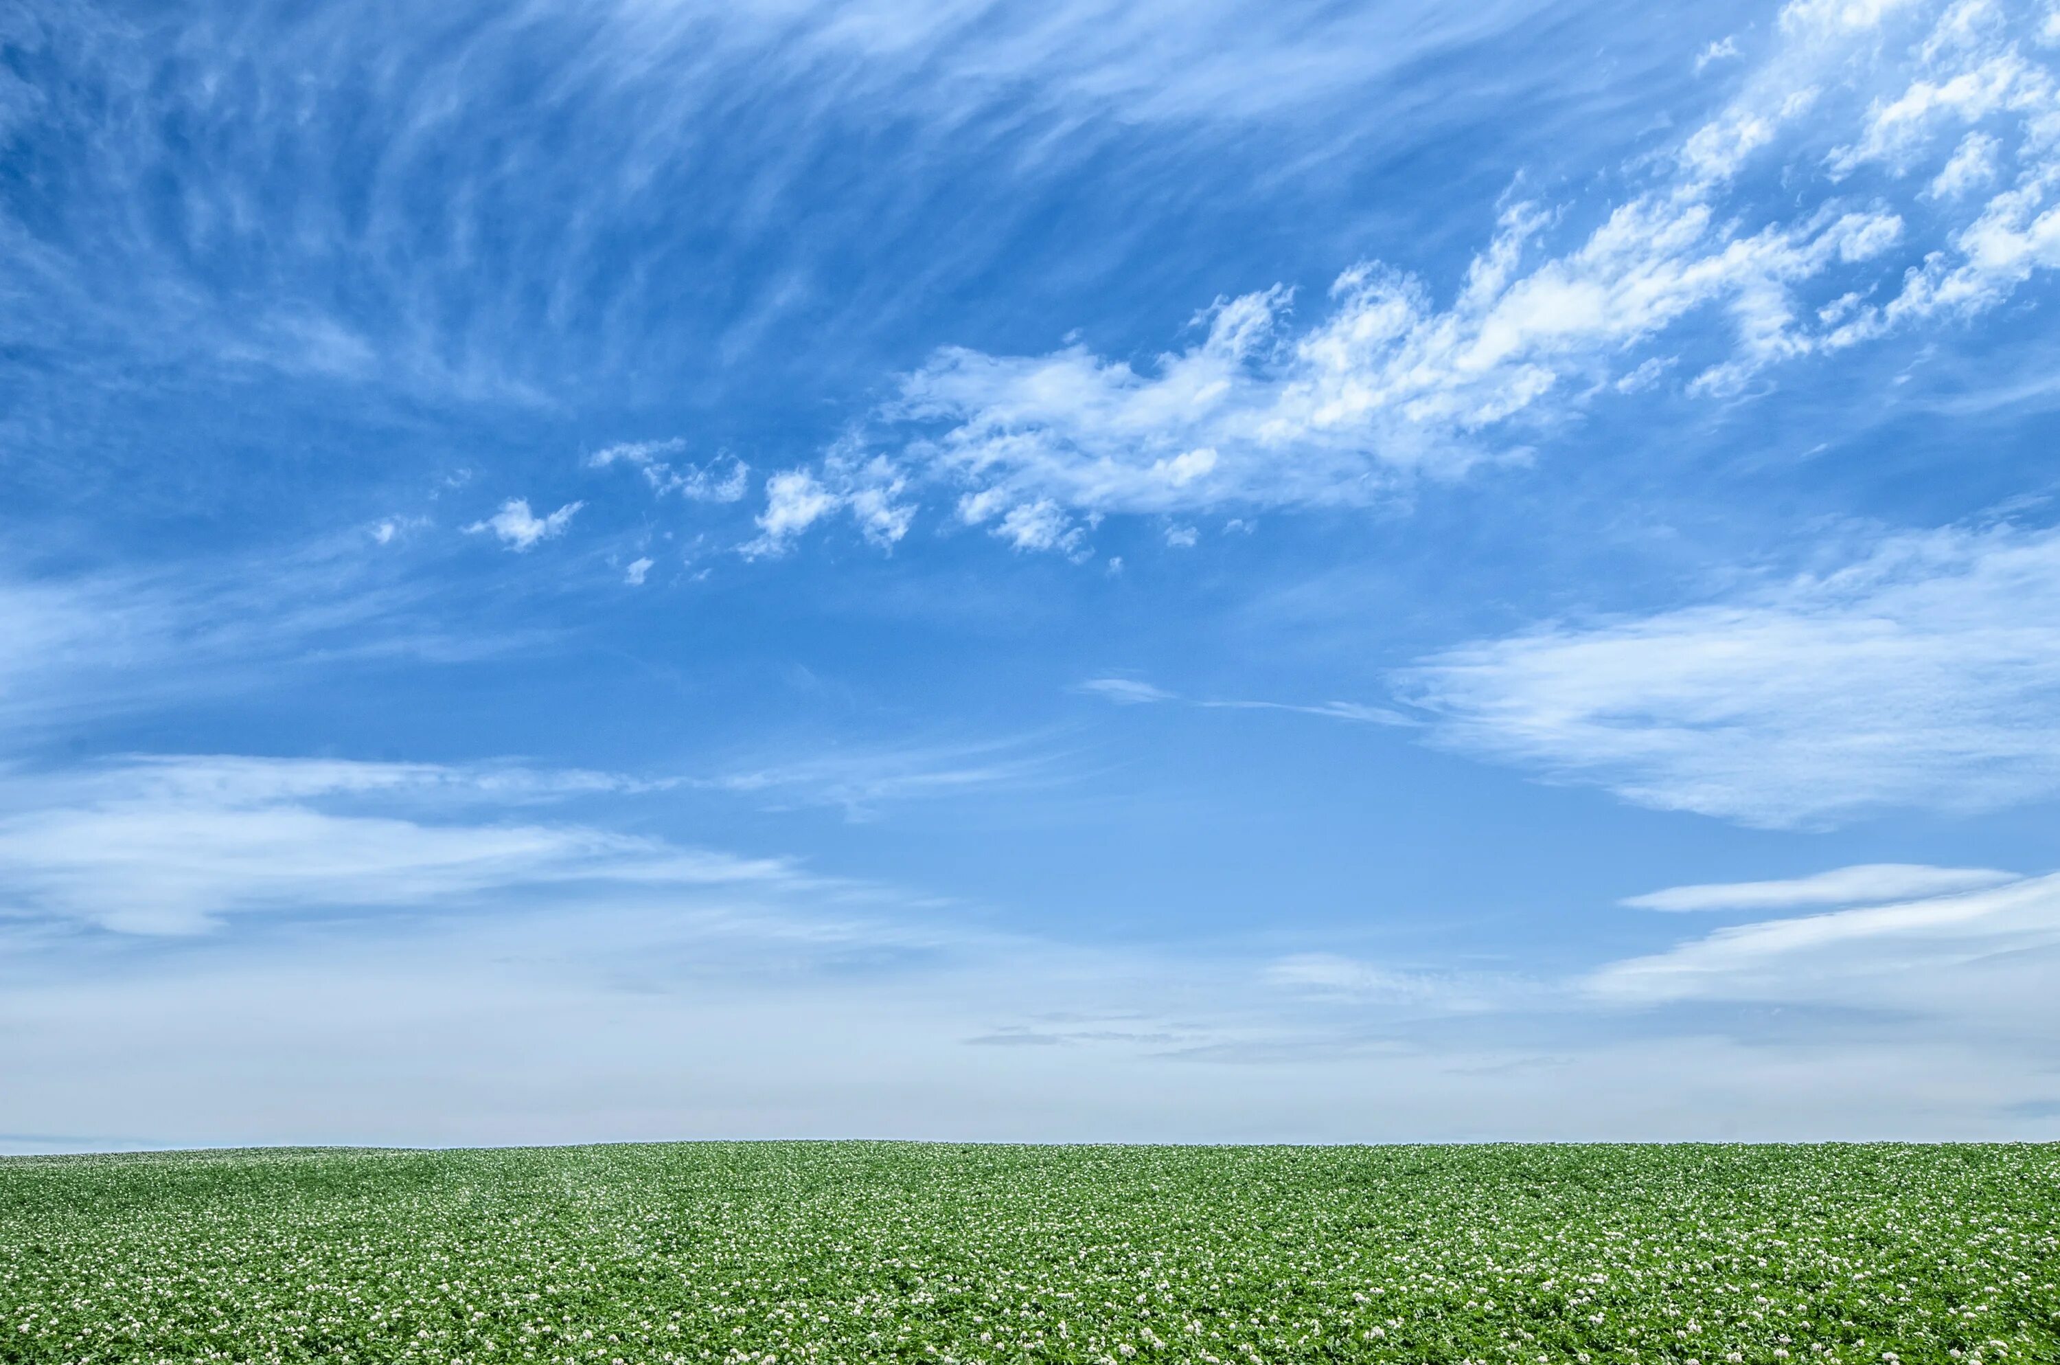
M 103 1148 L 1796 1140 L 2039 1136 L 2021 1105 L 2052 1095 L 2060 878 L 1747 926 L 1566 981 L 1067 944 L 781 862 L 478 817 L 620 781 L 216 757 L 6 784 L 10 1113 Z M 202 903 L 241 924 L 175 948 L 78 930 L 194 930 Z M 1732 1002 L 1858 1023 L 1611 1025 Z M 1568 1091 L 1596 1101 L 1553 1103 Z

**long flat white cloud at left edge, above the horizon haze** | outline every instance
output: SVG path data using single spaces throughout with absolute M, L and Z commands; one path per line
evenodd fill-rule
M 420 913 L 550 885 L 799 880 L 781 862 L 583 825 L 453 819 L 453 804 L 622 786 L 595 773 L 220 757 L 16 779 L 0 792 L 0 907 L 16 920 L 196 934 L 231 915 Z M 424 804 L 437 819 L 422 819 Z

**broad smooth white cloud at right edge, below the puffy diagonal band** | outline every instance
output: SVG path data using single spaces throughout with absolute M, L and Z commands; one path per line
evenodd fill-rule
M 2060 792 L 2060 530 L 1889 536 L 1730 600 L 1555 623 L 1397 687 L 1438 742 L 1642 806 L 1823 827 Z

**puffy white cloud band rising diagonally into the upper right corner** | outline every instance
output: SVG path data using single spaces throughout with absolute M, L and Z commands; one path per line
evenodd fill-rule
M 1079 342 L 946 346 L 869 439 L 913 487 L 950 489 L 960 522 L 1077 555 L 1084 524 L 1108 513 L 1362 505 L 1529 458 L 1599 396 L 1648 388 L 1679 359 L 1650 355 L 1658 344 L 1716 346 L 1687 394 L 1732 396 L 1776 365 L 1990 307 L 2060 262 L 2060 217 L 2044 210 L 2060 111 L 2021 14 L 1936 10 L 1796 0 L 1774 52 L 1644 192 L 1557 252 L 1570 210 L 1508 204 L 1448 301 L 1362 262 L 1312 322 L 1285 285 L 1220 297 L 1193 318 L 1197 340 L 1149 365 Z M 2002 113 L 2015 124 L 1988 136 L 2019 167 L 2006 196 L 1943 212 L 1943 190 L 1973 184 L 1973 151 L 1938 171 L 1922 214 L 1893 177 L 1846 186 L 1934 155 L 1938 122 Z M 1852 136 L 1825 151 L 1825 128 Z M 1759 181 L 1741 186 L 1755 161 L 1796 179 L 1800 210 L 1759 206 Z M 1893 301 L 1866 303 L 1897 280 Z

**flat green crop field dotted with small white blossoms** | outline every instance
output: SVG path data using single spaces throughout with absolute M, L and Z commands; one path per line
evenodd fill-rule
M 0 1361 L 2060 1361 L 2054 1146 L 0 1161 Z

